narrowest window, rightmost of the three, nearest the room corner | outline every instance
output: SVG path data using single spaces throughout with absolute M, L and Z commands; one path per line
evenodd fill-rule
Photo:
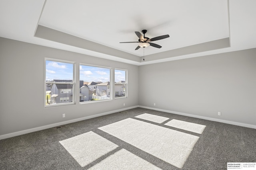
M 115 69 L 115 98 L 127 97 L 127 70 Z

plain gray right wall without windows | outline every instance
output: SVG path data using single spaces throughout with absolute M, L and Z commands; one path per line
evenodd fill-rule
M 140 66 L 139 105 L 256 125 L 256 49 Z

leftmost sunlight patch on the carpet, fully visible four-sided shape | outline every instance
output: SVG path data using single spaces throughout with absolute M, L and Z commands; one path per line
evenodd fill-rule
M 59 142 L 81 167 L 118 147 L 92 131 Z

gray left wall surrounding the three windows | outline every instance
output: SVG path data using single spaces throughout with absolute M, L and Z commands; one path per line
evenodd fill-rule
M 127 69 L 129 96 L 105 102 L 79 104 L 79 74 L 76 74 L 77 103 L 44 108 L 45 57 L 75 61 L 77 72 L 79 63 Z M 138 66 L 135 65 L 0 37 L 0 69 L 0 135 L 138 105 Z M 114 90 L 112 91 L 114 96 Z M 65 118 L 62 118 L 62 113 L 66 114 Z

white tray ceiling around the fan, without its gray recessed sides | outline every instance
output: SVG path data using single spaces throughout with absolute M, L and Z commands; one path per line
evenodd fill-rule
M 110 3 L 111 2 L 111 3 Z M 95 57 L 142 65 L 198 57 L 256 47 L 255 0 L 0 0 L 0 37 L 73 51 Z M 86 47 L 34 37 L 37 25 L 92 41 L 120 51 L 111 55 Z M 162 48 L 134 50 L 134 31 L 147 29 L 146 37 L 169 34 L 154 41 Z M 185 55 L 170 55 L 175 49 L 192 47 L 230 37 L 230 47 Z M 103 46 L 104 45 L 104 46 Z M 122 54 L 150 61 L 124 58 Z M 160 53 L 166 54 L 158 59 Z M 118 53 L 116 53 L 118 54 Z M 149 58 L 148 58 L 149 59 Z

